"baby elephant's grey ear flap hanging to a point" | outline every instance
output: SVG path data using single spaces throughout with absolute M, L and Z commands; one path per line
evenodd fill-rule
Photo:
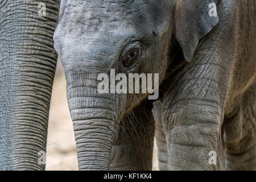
M 176 39 L 189 62 L 199 40 L 218 23 L 216 3 L 214 0 L 177 0 L 175 20 Z

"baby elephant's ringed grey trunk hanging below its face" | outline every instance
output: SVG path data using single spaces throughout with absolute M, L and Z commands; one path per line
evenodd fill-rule
M 123 95 L 98 93 L 96 73 L 76 70 L 66 78 L 79 169 L 109 170 Z

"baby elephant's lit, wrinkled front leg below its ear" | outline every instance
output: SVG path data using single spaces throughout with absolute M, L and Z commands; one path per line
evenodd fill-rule
M 220 21 L 199 43 L 163 98 L 163 126 L 171 170 L 222 169 L 222 123 L 236 53 L 231 6 L 218 4 Z M 224 13 L 225 12 L 225 13 Z

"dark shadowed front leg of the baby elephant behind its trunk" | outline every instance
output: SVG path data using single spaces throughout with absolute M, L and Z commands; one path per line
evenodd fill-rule
M 110 169 L 152 169 L 155 121 L 152 104 L 148 102 L 142 102 L 120 122 L 112 147 Z

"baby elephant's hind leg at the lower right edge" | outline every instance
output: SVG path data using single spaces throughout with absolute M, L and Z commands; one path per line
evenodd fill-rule
M 256 82 L 237 102 L 238 110 L 225 118 L 225 169 L 256 169 Z

